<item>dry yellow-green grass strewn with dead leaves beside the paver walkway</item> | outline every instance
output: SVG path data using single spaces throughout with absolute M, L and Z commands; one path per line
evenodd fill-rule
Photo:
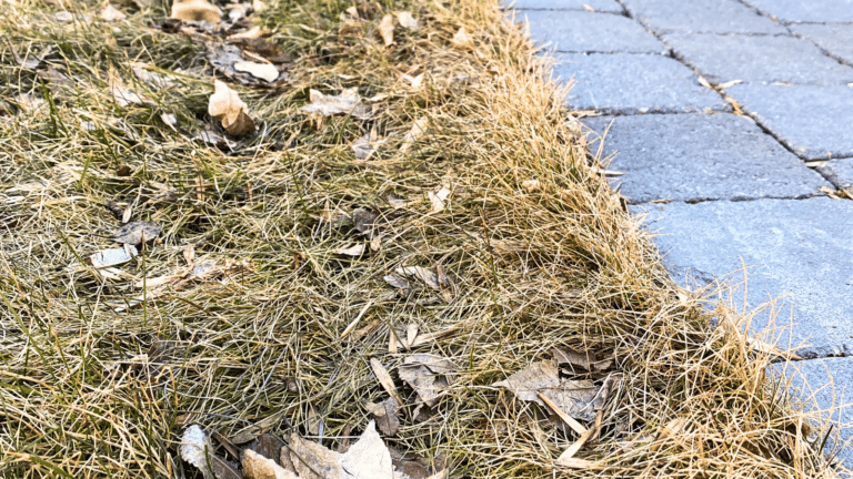
M 496 2 L 268 2 L 298 61 L 279 90 L 229 84 L 242 137 L 208 114 L 198 32 L 52 6 L 0 6 L 6 477 L 198 477 L 190 424 L 232 461 L 263 432 L 345 450 L 379 404 L 451 477 L 825 473 L 770 354 L 670 282 Z M 87 265 L 130 218 L 157 242 Z M 494 386 L 555 349 L 619 373 L 572 379 L 608 384 L 594 420 Z

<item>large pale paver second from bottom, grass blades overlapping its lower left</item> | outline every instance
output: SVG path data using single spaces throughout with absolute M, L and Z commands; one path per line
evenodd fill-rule
M 803 357 L 853 353 L 853 201 L 669 203 L 632 211 L 649 214 L 645 227 L 658 233 L 664 264 L 681 285 L 730 273 L 740 283 L 745 265 L 747 310 L 790 295 L 776 303 L 780 346 L 796 347 Z M 742 287 L 723 297 L 742 308 Z M 761 330 L 770 316 L 757 314 L 752 328 Z

